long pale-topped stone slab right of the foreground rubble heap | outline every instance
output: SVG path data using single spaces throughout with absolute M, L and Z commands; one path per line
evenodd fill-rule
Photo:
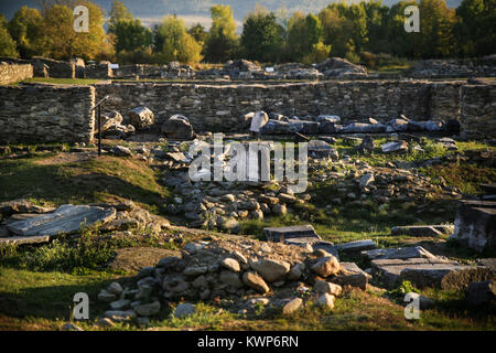
M 450 272 L 475 268 L 440 258 L 377 259 L 371 260 L 370 266 L 374 277 L 388 288 L 393 288 L 403 280 L 410 280 L 419 288 L 441 287 L 441 281 Z

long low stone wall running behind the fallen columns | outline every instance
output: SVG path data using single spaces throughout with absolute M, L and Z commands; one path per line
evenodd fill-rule
M 95 85 L 105 109 L 122 115 L 149 107 L 159 124 L 174 114 L 196 131 L 244 131 L 242 116 L 265 110 L 287 116 L 338 115 L 346 124 L 374 117 L 388 121 L 403 114 L 417 120 L 460 118 L 464 82 L 328 81 L 273 85 L 123 84 Z

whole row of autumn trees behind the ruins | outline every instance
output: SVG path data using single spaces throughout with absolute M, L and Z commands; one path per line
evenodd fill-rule
M 236 34 L 229 6 L 211 7 L 212 26 L 187 28 L 168 14 L 149 29 L 114 0 L 109 20 L 89 0 L 42 0 L 41 10 L 22 7 L 10 21 L 0 15 L 0 55 L 29 58 L 83 57 L 127 63 L 220 63 L 249 58 L 265 63 L 316 63 L 328 56 L 370 62 L 384 56 L 407 58 L 476 57 L 496 53 L 496 0 L 445 0 L 330 3 L 319 13 L 276 12 L 257 6 Z M 74 31 L 73 9 L 89 10 L 89 31 Z M 417 6 L 420 32 L 407 33 L 405 9 Z M 106 28 L 106 30 L 105 30 Z

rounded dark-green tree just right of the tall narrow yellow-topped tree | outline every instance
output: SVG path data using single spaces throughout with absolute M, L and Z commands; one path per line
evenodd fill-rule
M 261 62 L 277 62 L 282 54 L 284 29 L 276 14 L 268 11 L 251 12 L 242 25 L 241 45 L 245 57 Z

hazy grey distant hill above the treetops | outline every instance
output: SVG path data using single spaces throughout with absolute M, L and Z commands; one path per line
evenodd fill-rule
M 168 13 L 190 17 L 209 17 L 209 8 L 216 3 L 229 4 L 234 10 L 234 17 L 238 21 L 255 9 L 259 3 L 268 8 L 270 11 L 277 11 L 285 8 L 289 12 L 319 12 L 328 3 L 338 2 L 341 0 L 123 0 L 123 3 L 138 18 L 154 19 L 162 18 Z M 355 0 L 356 1 L 356 0 Z M 108 11 L 112 0 L 94 0 L 101 8 Z M 398 0 L 384 0 L 382 3 L 391 6 Z M 446 0 L 449 7 L 457 7 L 461 0 Z M 39 7 L 37 0 L 0 0 L 0 12 L 8 19 L 11 19 L 14 12 L 23 4 L 29 7 Z

